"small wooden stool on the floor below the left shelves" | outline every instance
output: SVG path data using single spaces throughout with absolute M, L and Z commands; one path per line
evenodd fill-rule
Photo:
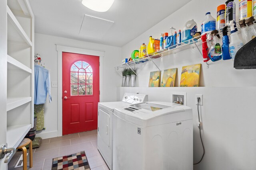
M 33 158 L 32 158 L 32 141 L 28 138 L 24 138 L 17 149 L 22 150 L 23 154 L 23 170 L 27 170 L 27 149 L 26 145 L 29 145 L 29 167 L 33 166 Z

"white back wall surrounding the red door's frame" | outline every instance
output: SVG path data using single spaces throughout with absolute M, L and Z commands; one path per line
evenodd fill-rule
M 96 43 L 89 43 L 84 41 L 77 41 L 74 39 L 67 39 L 62 37 L 55 37 L 51 35 L 35 34 L 35 53 L 41 55 L 42 63 L 50 70 L 51 81 L 58 80 L 57 74 L 57 51 L 56 45 L 64 45 L 69 47 L 77 47 L 82 49 L 90 49 L 96 51 L 105 51 L 103 59 L 103 90 L 100 95 L 103 96 L 101 102 L 116 101 L 116 79 L 117 72 L 114 71 L 114 66 L 118 65 L 118 57 L 121 54 L 120 47 L 113 47 L 108 45 L 100 45 Z M 57 96 L 58 88 L 51 88 L 52 103 L 49 104 L 48 98 L 45 104 L 44 122 L 46 130 L 37 133 L 37 137 L 50 138 L 58 136 L 57 124 Z

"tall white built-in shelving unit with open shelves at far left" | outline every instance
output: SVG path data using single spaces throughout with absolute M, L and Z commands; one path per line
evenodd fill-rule
M 34 14 L 28 0 L 4 0 L 2 4 L 7 15 L 0 20 L 6 27 L 1 35 L 7 37 L 7 44 L 0 43 L 5 51 L 0 57 L 7 69 L 0 68 L 0 72 L 4 77 L 1 84 L 7 84 L 7 89 L 1 89 L 6 100 L 2 102 L 6 106 L 1 107 L 6 108 L 1 110 L 6 119 L 1 121 L 6 121 L 6 128 L 0 131 L 1 135 L 6 133 L 8 147 L 16 148 L 34 126 Z

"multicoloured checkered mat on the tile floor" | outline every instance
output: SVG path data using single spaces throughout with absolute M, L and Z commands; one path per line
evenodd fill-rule
M 52 159 L 52 170 L 90 170 L 85 152 Z

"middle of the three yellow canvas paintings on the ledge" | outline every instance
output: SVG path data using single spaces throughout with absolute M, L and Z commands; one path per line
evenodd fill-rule
M 178 68 L 164 70 L 161 87 L 174 87 Z

